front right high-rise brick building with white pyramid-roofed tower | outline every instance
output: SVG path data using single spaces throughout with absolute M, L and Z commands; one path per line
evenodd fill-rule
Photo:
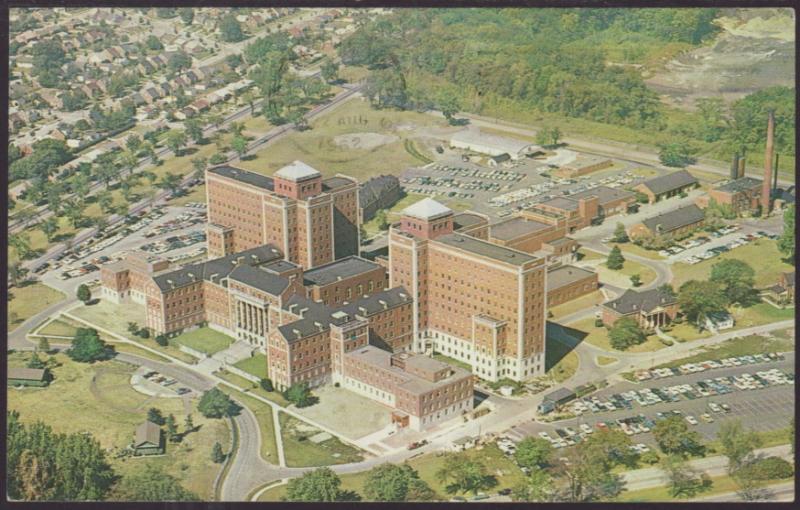
M 389 231 L 389 285 L 414 297 L 415 352 L 430 347 L 496 381 L 542 375 L 545 261 L 454 232 L 433 199 L 406 208 Z

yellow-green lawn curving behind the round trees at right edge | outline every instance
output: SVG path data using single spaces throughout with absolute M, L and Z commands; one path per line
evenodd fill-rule
M 672 285 L 677 289 L 689 280 L 706 280 L 711 275 L 711 268 L 714 264 L 725 259 L 738 259 L 750 264 L 756 272 L 756 287 L 759 288 L 774 284 L 778 281 L 778 276 L 785 271 L 794 271 L 794 266 L 783 261 L 783 255 L 778 251 L 777 241 L 756 239 L 718 257 L 694 265 L 683 262 L 673 264 Z

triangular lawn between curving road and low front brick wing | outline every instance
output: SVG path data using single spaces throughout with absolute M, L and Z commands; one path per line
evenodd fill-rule
M 320 430 L 293 416 L 281 412 L 278 413 L 278 419 L 281 422 L 286 465 L 289 467 L 331 466 L 364 459 L 359 450 L 342 443 L 336 437 L 316 444 L 311 442 L 309 438 Z

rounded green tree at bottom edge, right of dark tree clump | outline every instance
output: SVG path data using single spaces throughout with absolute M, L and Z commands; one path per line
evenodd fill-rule
M 186 490 L 180 481 L 163 468 L 146 464 L 144 469 L 126 475 L 114 488 L 116 501 L 200 501 L 200 497 Z

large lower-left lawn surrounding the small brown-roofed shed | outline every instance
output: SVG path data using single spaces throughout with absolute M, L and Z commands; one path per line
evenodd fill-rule
M 127 383 L 133 366 L 113 360 L 80 364 L 63 354 L 56 354 L 55 359 L 60 366 L 53 369 L 55 379 L 49 387 L 9 390 L 8 408 L 19 411 L 23 421 L 43 420 L 57 432 L 88 431 L 108 449 L 129 444 L 136 426 L 145 419 L 150 407 L 157 407 L 165 415 L 175 415 L 179 432 L 184 431 L 183 400 L 153 398 L 136 392 Z M 93 379 L 97 384 L 94 390 Z M 217 441 L 227 447 L 229 430 L 226 421 L 204 418 L 195 404 L 196 401 L 191 402 L 195 432 L 186 435 L 177 445 L 167 444 L 167 454 L 163 456 L 114 459 L 112 451 L 109 459 L 114 470 L 125 476 L 143 469 L 146 464 L 161 466 L 187 489 L 209 500 L 219 469 L 219 465 L 211 462 L 211 448 Z M 54 420 L 54 416 L 58 419 Z

